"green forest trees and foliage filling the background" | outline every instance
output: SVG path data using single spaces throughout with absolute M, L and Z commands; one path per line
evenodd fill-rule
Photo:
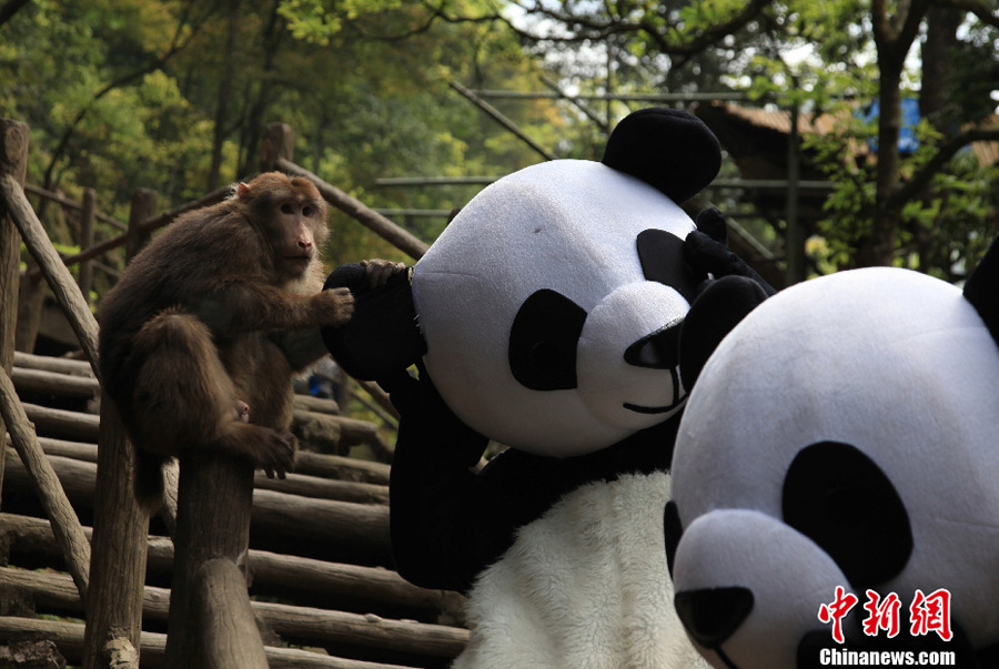
M 31 128 L 28 183 L 75 200 L 95 189 L 122 221 L 137 187 L 168 210 L 252 175 L 274 121 L 295 130 L 295 162 L 370 206 L 451 211 L 481 185 L 376 181 L 538 162 L 450 83 L 551 93 L 545 79 L 593 97 L 739 92 L 830 114 L 834 130 L 799 146 L 834 184 L 807 231 L 810 273 L 894 264 L 959 281 L 999 231 L 999 165 L 968 151 L 999 141 L 996 0 L 0 2 L 0 116 Z M 587 113 L 554 97 L 492 103 L 554 155 L 592 160 L 607 125 L 649 105 L 588 100 Z M 872 103 L 888 111 L 858 112 Z M 899 149 L 904 131 L 914 151 Z M 724 174 L 738 176 L 730 163 Z M 40 209 L 71 251 L 57 210 Z M 430 243 L 446 215 L 400 222 Z M 412 262 L 342 214 L 331 224 L 331 267 Z M 780 221 L 744 224 L 781 256 Z

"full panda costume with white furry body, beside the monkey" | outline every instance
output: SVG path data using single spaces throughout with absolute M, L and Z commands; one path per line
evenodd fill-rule
M 663 556 L 686 389 L 684 316 L 712 276 L 769 288 L 724 243 L 717 210 L 679 204 L 717 174 L 695 116 L 624 119 L 602 162 L 557 160 L 475 196 L 412 270 L 324 332 L 401 415 L 395 566 L 468 596 L 462 669 L 696 667 Z M 698 230 L 700 229 L 700 230 Z M 418 381 L 405 372 L 416 363 Z M 475 472 L 490 439 L 509 448 Z

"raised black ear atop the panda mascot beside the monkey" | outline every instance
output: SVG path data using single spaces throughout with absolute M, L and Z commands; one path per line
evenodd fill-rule
M 704 121 L 688 112 L 643 109 L 617 124 L 601 162 L 683 204 L 718 174 L 722 146 Z

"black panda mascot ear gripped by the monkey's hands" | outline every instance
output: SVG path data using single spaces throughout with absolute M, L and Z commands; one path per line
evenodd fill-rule
M 412 270 L 394 274 L 385 285 L 370 288 L 363 265 L 342 265 L 323 290 L 346 287 L 354 295 L 354 314 L 339 327 L 322 328 L 323 342 L 343 371 L 362 381 L 377 381 L 404 372 L 426 353 L 416 324 Z

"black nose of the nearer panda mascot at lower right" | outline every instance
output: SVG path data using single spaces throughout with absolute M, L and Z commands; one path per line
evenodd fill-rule
M 743 587 L 706 588 L 676 594 L 676 614 L 694 640 L 718 648 L 753 610 L 753 592 Z

